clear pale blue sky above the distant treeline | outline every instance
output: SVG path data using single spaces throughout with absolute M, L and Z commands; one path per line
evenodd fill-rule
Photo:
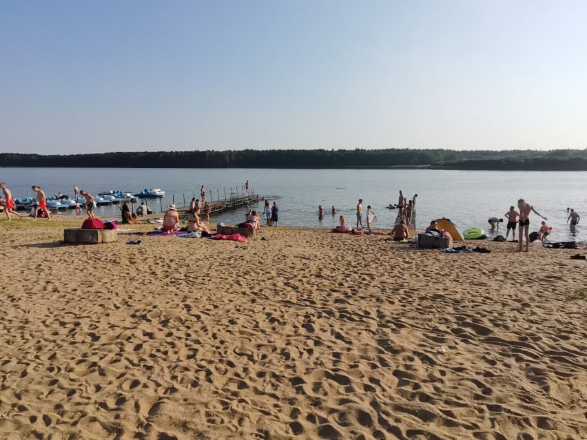
M 0 2 L 0 152 L 587 147 L 587 1 Z

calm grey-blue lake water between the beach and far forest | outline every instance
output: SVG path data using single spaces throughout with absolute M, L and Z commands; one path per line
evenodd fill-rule
M 338 224 L 341 214 L 347 222 L 354 222 L 359 198 L 363 209 L 371 205 L 378 216 L 374 227 L 389 228 L 397 211 L 386 209 L 398 202 L 399 190 L 411 198 L 418 193 L 416 225 L 424 229 L 433 218 L 450 218 L 460 231 L 469 227 L 488 230 L 487 219 L 504 218 L 511 205 L 519 198 L 534 205 L 548 218 L 553 227 L 552 240 L 584 240 L 587 229 L 579 222 L 571 233 L 566 224 L 567 207 L 585 214 L 587 222 L 586 171 L 453 171 L 429 169 L 134 169 L 134 168 L 0 168 L 0 180 L 6 182 L 14 198 L 32 195 L 30 187 L 39 185 L 50 196 L 58 191 L 72 196 L 73 187 L 96 195 L 107 189 L 138 192 L 144 188 L 161 188 L 166 191 L 161 205 L 172 202 L 183 205 L 205 185 L 208 198 L 223 200 L 225 191 L 243 191 L 249 180 L 254 193 L 277 202 L 280 209 L 280 226 L 323 227 L 331 229 Z M 237 189 L 238 188 L 238 189 Z M 160 202 L 150 201 L 152 207 Z M 326 211 L 318 219 L 318 205 Z M 331 216 L 331 207 L 337 209 Z M 262 211 L 263 202 L 251 205 Z M 136 206 L 135 206 L 136 207 Z M 214 222 L 240 222 L 246 208 L 212 216 Z M 99 207 L 99 216 L 119 218 L 116 205 Z M 72 211 L 59 212 L 60 216 L 73 215 Z M 531 216 L 531 231 L 540 226 L 539 217 Z M 506 220 L 504 220 L 506 221 Z M 503 229 L 503 231 L 502 231 Z M 500 225 L 505 235 L 505 223 Z M 491 235 L 490 235 L 491 236 Z

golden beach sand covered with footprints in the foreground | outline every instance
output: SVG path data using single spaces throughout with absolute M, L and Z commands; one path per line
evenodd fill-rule
M 2 439 L 587 438 L 577 251 L 72 222 L 0 220 Z

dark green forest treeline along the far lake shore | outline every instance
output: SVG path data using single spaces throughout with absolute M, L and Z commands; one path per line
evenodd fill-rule
M 0 153 L 0 167 L 88 168 L 393 168 L 587 170 L 587 149 L 313 149 L 143 151 L 41 155 Z

